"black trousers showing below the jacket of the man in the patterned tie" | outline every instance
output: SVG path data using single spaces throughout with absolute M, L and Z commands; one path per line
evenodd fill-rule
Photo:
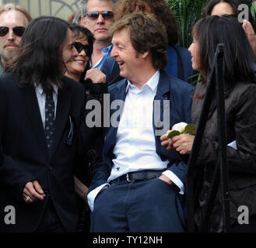
M 44 216 L 41 219 L 36 232 L 66 232 L 50 197 L 47 199 Z

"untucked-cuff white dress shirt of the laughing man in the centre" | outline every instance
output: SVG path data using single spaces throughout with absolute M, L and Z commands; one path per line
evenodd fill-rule
M 128 172 L 145 170 L 164 170 L 168 160 L 162 161 L 156 153 L 153 130 L 153 101 L 156 96 L 160 72 L 149 79 L 141 89 L 128 81 L 126 98 L 121 120 L 117 129 L 117 143 L 113 153 L 115 158 L 107 182 L 113 181 Z M 171 171 L 163 171 L 184 194 L 184 184 Z M 109 184 L 103 184 L 89 192 L 87 198 L 93 211 L 93 203 L 99 191 Z

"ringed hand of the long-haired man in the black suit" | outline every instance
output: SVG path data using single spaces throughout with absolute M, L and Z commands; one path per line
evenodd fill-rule
M 26 203 L 44 200 L 45 194 L 38 181 L 28 182 L 23 189 L 23 200 Z

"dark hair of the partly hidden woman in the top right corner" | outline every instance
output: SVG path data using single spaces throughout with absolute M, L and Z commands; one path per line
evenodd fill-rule
M 228 4 L 230 4 L 231 8 L 233 9 L 233 15 L 235 15 L 236 17 L 238 17 L 238 15 L 240 14 L 240 12 L 242 10 L 238 10 L 238 6 L 239 5 L 250 5 L 250 0 L 211 0 L 204 8 L 203 12 L 202 12 L 202 18 L 204 18 L 207 15 L 211 15 L 212 14 L 212 9 L 214 8 L 215 5 L 221 3 L 221 2 L 226 2 Z M 253 18 L 253 16 L 251 15 L 250 12 L 250 8 L 249 8 L 249 19 L 248 21 L 251 22 L 251 25 L 254 28 L 254 32 L 256 31 L 255 28 L 255 20 Z

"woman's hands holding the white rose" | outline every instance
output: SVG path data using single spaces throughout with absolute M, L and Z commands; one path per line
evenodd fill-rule
M 166 146 L 167 150 L 177 150 L 177 152 L 181 154 L 191 153 L 195 136 L 191 134 L 181 134 L 174 136 L 171 139 L 167 139 L 167 136 L 171 131 L 172 130 L 167 131 L 167 134 L 160 137 L 160 140 L 162 140 L 161 145 Z

